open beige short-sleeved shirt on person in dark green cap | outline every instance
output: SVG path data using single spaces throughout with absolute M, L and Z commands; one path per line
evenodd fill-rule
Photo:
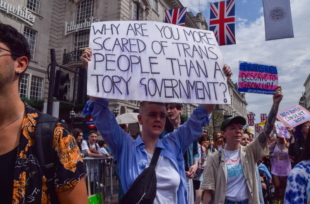
M 262 148 L 258 139 L 256 139 L 246 146 L 240 145 L 240 148 L 241 166 L 246 179 L 246 184 L 249 188 L 249 204 L 257 204 L 259 203 L 259 195 L 257 189 L 255 163 L 265 155 L 269 154 L 268 144 L 266 143 L 266 145 Z M 226 197 L 227 171 L 223 150 L 221 155 L 221 162 L 219 165 L 219 152 L 214 152 L 211 154 L 203 171 L 201 189 L 212 190 L 212 204 L 223 204 Z

